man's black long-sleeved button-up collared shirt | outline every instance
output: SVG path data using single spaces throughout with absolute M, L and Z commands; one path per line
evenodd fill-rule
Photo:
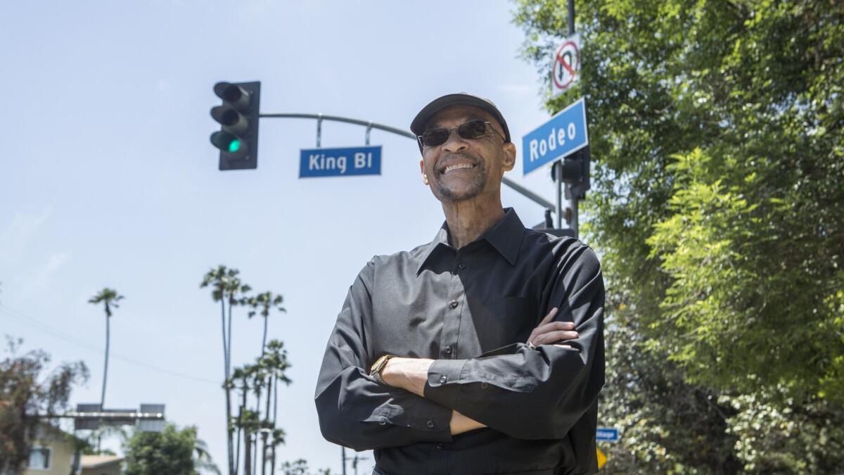
M 527 347 L 554 307 L 579 337 Z M 436 360 L 425 397 L 369 376 L 385 354 Z M 431 243 L 365 265 L 328 340 L 317 412 L 327 440 L 375 449 L 376 473 L 595 472 L 603 364 L 594 252 L 508 209 L 463 248 L 443 225 Z M 488 428 L 452 437 L 452 409 Z

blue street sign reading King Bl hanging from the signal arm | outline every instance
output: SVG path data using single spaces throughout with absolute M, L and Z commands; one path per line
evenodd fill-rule
M 381 175 L 381 145 L 343 149 L 302 149 L 299 177 Z

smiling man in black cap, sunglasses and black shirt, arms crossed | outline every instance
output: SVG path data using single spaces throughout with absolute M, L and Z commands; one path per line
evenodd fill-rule
M 377 474 L 595 472 L 598 259 L 502 208 L 516 147 L 490 101 L 442 96 L 410 128 L 446 223 L 350 287 L 317 383 L 322 434 L 375 449 Z

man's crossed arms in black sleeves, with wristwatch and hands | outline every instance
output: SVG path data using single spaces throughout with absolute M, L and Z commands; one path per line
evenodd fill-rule
M 480 358 L 393 358 L 376 382 L 363 315 L 372 315 L 373 264 L 361 270 L 328 341 L 315 400 L 323 436 L 355 450 L 450 442 L 484 426 L 518 439 L 560 439 L 603 386 L 603 278 L 586 248 L 560 267 L 544 302 L 559 305 L 515 343 Z M 583 262 L 585 261 L 585 264 Z M 555 321 L 560 320 L 560 321 Z M 575 332 L 575 333 L 566 333 Z M 571 338 L 571 339 L 570 339 Z M 565 340 L 564 345 L 555 341 Z

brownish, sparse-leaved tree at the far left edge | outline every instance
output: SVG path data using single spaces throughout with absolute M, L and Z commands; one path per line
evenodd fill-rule
M 48 371 L 43 351 L 18 354 L 22 340 L 8 338 L 8 356 L 0 360 L 0 473 L 19 473 L 29 460 L 39 424 L 68 408 L 73 385 L 88 379 L 83 362 L 62 363 Z

